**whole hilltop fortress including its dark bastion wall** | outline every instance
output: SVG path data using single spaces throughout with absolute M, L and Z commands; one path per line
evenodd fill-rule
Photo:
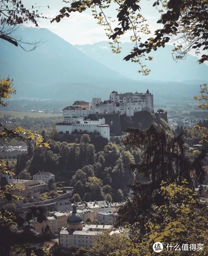
M 121 135 L 126 127 L 141 127 L 150 122 L 151 113 L 153 94 L 148 89 L 146 93 L 112 91 L 109 100 L 75 101 L 64 108 L 64 122 L 57 123 L 56 129 L 59 134 L 93 133 L 110 140 L 110 136 Z

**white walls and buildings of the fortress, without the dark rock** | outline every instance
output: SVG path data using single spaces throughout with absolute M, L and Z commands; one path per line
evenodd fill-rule
M 64 122 L 57 123 L 56 129 L 58 133 L 66 134 L 72 134 L 75 130 L 86 130 L 87 133 L 97 132 L 100 136 L 110 140 L 110 127 L 105 124 L 105 119 L 90 120 L 87 119 L 89 115 L 119 113 L 120 115 L 125 114 L 131 117 L 139 111 L 148 111 L 150 113 L 154 111 L 153 94 L 148 89 L 146 93 L 126 92 L 119 94 L 117 91 L 112 91 L 107 101 L 102 102 L 101 98 L 93 98 L 92 107 L 89 109 L 85 109 L 78 104 L 64 108 Z

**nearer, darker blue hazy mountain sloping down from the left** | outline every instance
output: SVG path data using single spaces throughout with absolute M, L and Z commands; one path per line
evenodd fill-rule
M 128 80 L 47 29 L 23 27 L 16 33 L 21 34 L 24 41 L 45 41 L 35 50 L 26 52 L 0 40 L 0 59 L 4 60 L 4 65 L 0 65 L 0 76 L 14 78 L 22 95 L 27 95 L 31 88 L 35 95 L 38 95 L 37 90 L 51 94 L 48 89 L 51 86 L 56 89 L 55 85 L 61 83 Z

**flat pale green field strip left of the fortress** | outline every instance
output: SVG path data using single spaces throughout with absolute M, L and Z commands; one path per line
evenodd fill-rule
M 38 112 L 18 112 L 18 111 L 5 111 L 0 110 L 0 118 L 4 117 L 4 115 L 10 115 L 10 118 L 20 117 L 23 118 L 25 115 L 29 117 L 52 117 L 52 116 L 63 116 L 62 114 L 45 114 L 45 113 L 38 113 Z

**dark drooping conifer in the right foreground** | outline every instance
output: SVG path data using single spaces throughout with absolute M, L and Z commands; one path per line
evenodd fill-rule
M 170 137 L 163 128 L 157 130 L 153 125 L 145 130 L 127 128 L 126 132 L 129 135 L 125 143 L 140 147 L 142 152 L 142 161 L 131 168 L 148 182 L 135 181 L 129 186 L 133 198 L 119 210 L 117 224 L 139 221 L 143 232 L 144 224 L 153 218 L 150 206 L 164 204 L 165 198 L 158 193 L 161 182 L 178 184 L 186 179 L 190 188 L 194 188 L 194 182 L 202 184 L 205 174 L 201 160 L 206 152 L 202 151 L 191 162 L 185 156 L 182 134 Z

